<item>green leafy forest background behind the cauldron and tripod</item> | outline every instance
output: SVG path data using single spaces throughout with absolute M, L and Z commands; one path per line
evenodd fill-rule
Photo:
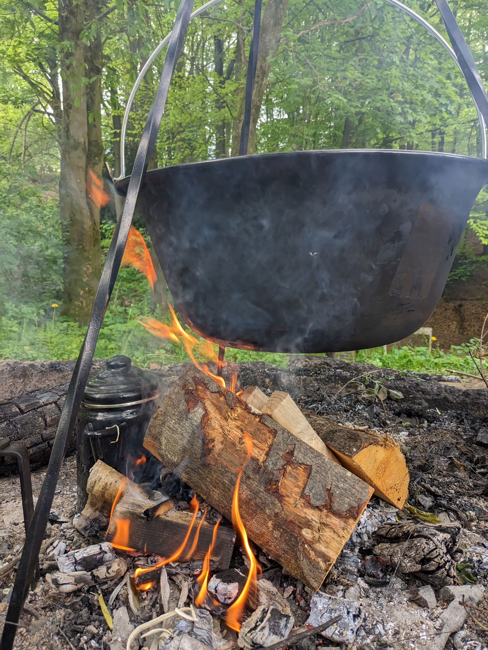
M 409 0 L 445 38 L 435 3 Z M 200 6 L 197 0 L 195 8 Z M 488 0 L 452 0 L 483 80 L 488 79 Z M 120 124 L 135 78 L 170 31 L 178 1 L 3 0 L 0 6 L 0 359 L 72 359 L 79 352 L 115 225 L 111 202 L 85 188 L 103 163 L 120 172 Z M 243 114 L 252 0 L 222 0 L 189 27 L 150 168 L 236 155 Z M 130 114 L 126 170 L 156 91 L 163 55 Z M 383 0 L 267 0 L 252 102 L 249 153 L 394 148 L 480 156 L 468 88 L 418 23 Z M 488 191 L 470 215 L 450 281 L 487 266 Z M 144 221 L 134 225 L 150 248 Z M 156 268 L 157 272 L 159 270 Z M 170 322 L 167 292 L 122 268 L 96 356 L 137 365 L 186 359 L 183 346 L 150 335 L 148 315 Z M 288 356 L 229 350 L 234 360 Z M 286 358 L 285 358 L 286 357 Z M 400 368 L 467 368 L 466 350 L 359 353 Z

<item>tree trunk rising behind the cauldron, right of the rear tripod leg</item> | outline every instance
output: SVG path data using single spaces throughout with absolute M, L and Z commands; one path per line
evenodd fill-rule
M 258 63 L 256 65 L 256 77 L 254 80 L 254 93 L 251 103 L 251 127 L 249 129 L 249 144 L 247 153 L 254 153 L 256 147 L 256 125 L 259 120 L 261 105 L 269 77 L 269 59 L 278 49 L 281 29 L 283 27 L 288 0 L 268 0 L 264 10 L 261 25 Z

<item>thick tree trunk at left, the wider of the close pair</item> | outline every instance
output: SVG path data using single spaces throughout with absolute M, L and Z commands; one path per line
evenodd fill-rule
M 100 275 L 100 227 L 88 206 L 85 188 L 88 114 L 85 45 L 81 32 L 85 9 L 74 0 L 60 0 L 59 42 L 63 46 L 61 174 L 59 205 L 65 240 L 62 313 L 81 323 L 90 316 Z

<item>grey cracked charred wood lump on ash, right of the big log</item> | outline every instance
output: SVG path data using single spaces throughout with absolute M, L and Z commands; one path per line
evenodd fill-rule
M 460 533 L 461 526 L 454 523 L 387 523 L 373 533 L 373 552 L 382 564 L 398 565 L 400 573 L 441 587 L 456 580 L 456 564 L 463 555 Z

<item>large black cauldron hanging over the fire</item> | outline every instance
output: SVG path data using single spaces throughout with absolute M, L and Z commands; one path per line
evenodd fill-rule
M 467 156 L 297 151 L 152 170 L 138 205 L 193 330 L 234 348 L 340 352 L 426 322 L 487 181 L 488 162 Z

